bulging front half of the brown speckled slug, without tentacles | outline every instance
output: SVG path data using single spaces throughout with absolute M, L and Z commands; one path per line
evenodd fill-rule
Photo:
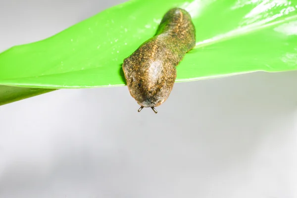
M 131 96 L 143 107 L 156 107 L 170 95 L 176 79 L 175 55 L 154 38 L 124 59 L 123 71 Z

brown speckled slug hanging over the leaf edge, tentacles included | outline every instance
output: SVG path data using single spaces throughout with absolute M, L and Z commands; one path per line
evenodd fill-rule
M 156 34 L 143 43 L 129 57 L 122 68 L 131 96 L 141 106 L 162 104 L 176 79 L 176 66 L 196 44 L 195 27 L 190 14 L 181 8 L 165 13 Z

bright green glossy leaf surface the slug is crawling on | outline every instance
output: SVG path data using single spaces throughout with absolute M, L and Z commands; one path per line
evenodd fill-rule
M 172 7 L 188 10 L 197 32 L 176 82 L 297 69 L 297 0 L 131 0 L 0 53 L 0 85 L 124 86 L 123 59 L 154 35 Z

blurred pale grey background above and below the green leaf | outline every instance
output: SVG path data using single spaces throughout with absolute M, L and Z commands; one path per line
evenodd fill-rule
M 0 51 L 124 0 L 1 0 Z M 127 87 L 0 106 L 0 198 L 297 198 L 297 72 Z

